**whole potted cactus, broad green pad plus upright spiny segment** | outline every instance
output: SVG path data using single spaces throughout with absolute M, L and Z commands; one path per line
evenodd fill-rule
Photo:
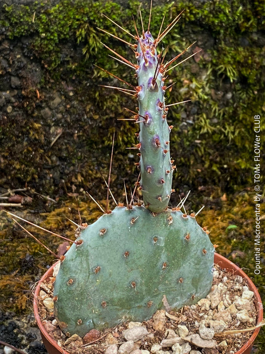
M 138 78 L 133 96 L 139 104 L 135 119 L 140 126 L 136 148 L 141 180 L 136 186 L 143 205 L 131 201 L 106 211 L 79 233 L 61 261 L 54 304 L 65 333 L 82 336 L 125 319 L 143 321 L 165 304 L 179 308 L 210 290 L 214 247 L 208 231 L 197 224 L 195 213 L 180 210 L 183 205 L 168 207 L 174 166 L 165 73 L 180 55 L 163 64 L 156 47 L 178 19 L 156 39 L 149 25 L 141 36 L 133 36 L 138 41 L 131 45 L 137 64 L 119 56 Z

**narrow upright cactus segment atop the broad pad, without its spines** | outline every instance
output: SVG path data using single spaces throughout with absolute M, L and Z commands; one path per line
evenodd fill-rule
M 150 32 L 139 38 L 136 58 L 139 68 L 138 102 L 140 123 L 139 150 L 143 201 L 153 212 L 165 210 L 169 204 L 173 165 L 170 158 L 169 135 L 165 106 L 165 78 L 161 56 L 157 56 L 156 42 Z

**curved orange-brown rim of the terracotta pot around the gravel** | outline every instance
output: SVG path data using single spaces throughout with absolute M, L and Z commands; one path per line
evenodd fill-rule
M 254 283 L 252 282 L 252 280 L 246 275 L 246 273 L 244 273 L 241 270 L 241 268 L 239 268 L 235 263 L 231 262 L 229 259 L 227 259 L 226 257 L 222 256 L 221 254 L 215 253 L 214 261 L 217 264 L 218 263 L 222 263 L 222 268 L 223 269 L 228 269 L 233 274 L 240 275 L 242 278 L 245 278 L 247 280 L 247 283 L 248 283 L 251 291 L 254 292 L 254 296 L 256 298 L 255 306 L 256 306 L 256 309 L 257 309 L 257 313 L 258 313 L 257 323 L 260 323 L 262 321 L 262 319 L 263 319 L 263 306 L 262 306 L 262 302 L 261 302 L 261 298 L 260 298 L 260 295 L 258 293 L 258 290 L 257 290 L 256 286 L 254 285 Z M 36 286 L 35 291 L 34 291 L 33 309 L 34 309 L 34 316 L 36 318 L 37 325 L 38 325 L 41 333 L 46 338 L 46 340 L 52 346 L 54 346 L 57 350 L 59 350 L 59 352 L 61 352 L 62 354 L 69 354 L 60 345 L 58 345 L 57 342 L 54 339 L 52 339 L 49 336 L 49 334 L 47 333 L 47 331 L 45 330 L 45 328 L 42 325 L 42 322 L 41 322 L 41 319 L 40 319 L 40 316 L 39 316 L 39 312 L 38 312 L 38 294 L 39 294 L 39 291 L 40 291 L 40 284 L 43 282 L 43 280 L 45 280 L 48 276 L 50 276 L 49 274 L 54 269 L 55 265 L 58 264 L 59 262 L 60 262 L 60 260 L 58 260 L 56 263 L 52 264 L 51 267 L 44 273 L 44 275 L 38 281 L 37 286 Z M 245 350 L 248 349 L 253 344 L 253 342 L 254 342 L 259 330 L 260 330 L 260 327 L 257 327 L 254 330 L 254 332 L 251 335 L 251 337 L 248 339 L 248 341 L 238 351 L 236 351 L 235 354 L 243 354 L 245 352 Z

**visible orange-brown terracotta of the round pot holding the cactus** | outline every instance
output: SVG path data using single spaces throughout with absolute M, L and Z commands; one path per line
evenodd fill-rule
M 259 293 L 255 287 L 255 285 L 252 283 L 252 281 L 250 280 L 250 278 L 239 268 L 237 267 L 236 264 L 232 263 L 230 260 L 228 260 L 227 258 L 221 256 L 218 253 L 215 253 L 215 263 L 218 263 L 221 268 L 226 268 L 227 270 L 231 271 L 231 273 L 239 275 L 243 278 L 246 279 L 249 289 L 252 290 L 254 292 L 254 296 L 256 299 L 255 305 L 258 311 L 258 318 L 257 318 L 257 323 L 262 321 L 263 318 L 263 311 L 262 311 L 262 303 L 261 303 L 261 299 L 259 296 Z M 55 263 L 56 264 L 56 263 Z M 41 337 L 43 340 L 43 344 L 45 345 L 47 351 L 49 354 L 69 354 L 67 351 L 65 351 L 64 349 L 62 349 L 55 340 L 51 339 L 50 336 L 48 335 L 48 333 L 46 332 L 45 328 L 43 327 L 40 317 L 39 317 L 39 313 L 38 313 L 38 295 L 39 295 L 39 291 L 40 291 L 40 283 L 46 279 L 47 277 L 52 276 L 52 272 L 54 270 L 54 265 L 52 265 L 48 271 L 43 275 L 43 277 L 40 279 L 40 281 L 38 282 L 38 285 L 35 289 L 35 293 L 34 293 L 34 300 L 33 300 L 33 307 L 34 307 L 34 315 L 37 321 L 37 325 L 40 329 L 41 332 Z M 254 333 L 252 334 L 252 336 L 249 338 L 249 340 L 247 341 L 247 343 L 241 348 L 239 349 L 235 354 L 250 354 L 251 352 L 251 348 L 252 348 L 252 344 L 259 332 L 260 327 L 256 328 Z

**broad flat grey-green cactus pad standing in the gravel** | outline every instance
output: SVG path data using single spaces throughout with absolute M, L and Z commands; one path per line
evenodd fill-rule
M 214 247 L 195 217 L 143 206 L 116 207 L 83 230 L 56 278 L 55 315 L 80 336 L 122 320 L 143 321 L 163 297 L 172 308 L 205 297 Z

